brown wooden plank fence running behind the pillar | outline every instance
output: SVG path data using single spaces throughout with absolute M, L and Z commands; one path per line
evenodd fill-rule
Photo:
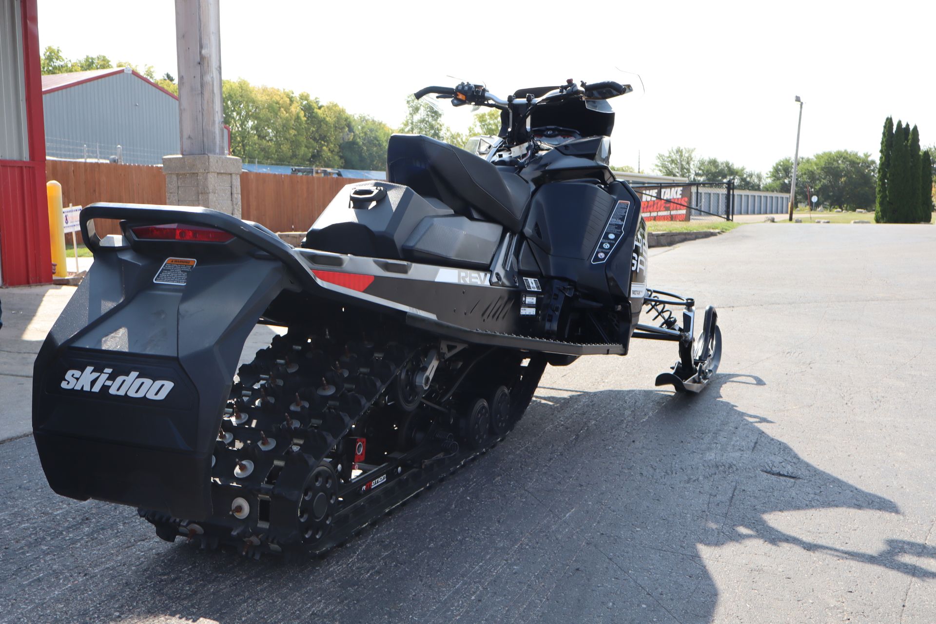
M 46 180 L 62 184 L 65 205 L 95 201 L 165 204 L 162 167 L 112 165 L 71 160 L 46 161 Z M 305 231 L 351 178 L 241 173 L 241 217 L 274 232 Z M 101 234 L 117 234 L 116 224 L 100 224 Z

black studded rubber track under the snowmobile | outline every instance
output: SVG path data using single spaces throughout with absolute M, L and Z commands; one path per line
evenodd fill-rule
M 388 388 L 419 352 L 418 339 L 408 338 L 407 346 L 385 342 L 380 349 L 332 340 L 328 329 L 275 338 L 241 366 L 231 387 L 212 457 L 212 517 L 139 515 L 169 542 L 183 536 L 255 558 L 322 556 L 503 440 L 506 432 L 489 434 L 479 448 L 460 449 L 452 432 L 433 425 L 424 442 L 386 453 L 376 466 L 361 462 L 352 478 L 354 452 L 346 446 L 360 440 L 355 426 L 375 403 L 387 409 Z M 511 428 L 544 368 L 537 358 L 508 388 L 516 398 Z

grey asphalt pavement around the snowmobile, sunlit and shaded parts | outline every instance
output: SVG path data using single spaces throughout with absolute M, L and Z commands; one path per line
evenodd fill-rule
M 653 387 L 671 343 L 548 369 L 504 443 L 326 559 L 167 544 L 0 443 L 0 622 L 936 620 L 936 228 L 745 225 L 650 279 L 719 308 L 702 395 Z

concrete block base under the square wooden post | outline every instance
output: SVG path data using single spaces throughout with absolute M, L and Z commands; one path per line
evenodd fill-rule
M 163 156 L 166 203 L 203 206 L 241 218 L 241 159 L 213 154 Z

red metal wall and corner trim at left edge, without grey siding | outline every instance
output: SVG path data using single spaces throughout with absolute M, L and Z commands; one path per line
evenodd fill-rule
M 0 160 L 0 262 L 8 286 L 49 283 L 52 277 L 36 2 L 21 5 L 29 160 Z

